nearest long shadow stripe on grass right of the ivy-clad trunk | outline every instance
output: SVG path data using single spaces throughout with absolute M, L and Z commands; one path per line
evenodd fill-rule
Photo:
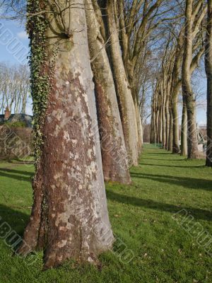
M 154 200 L 142 200 L 138 197 L 128 197 L 127 195 L 119 195 L 116 192 L 113 192 L 112 190 L 107 190 L 107 199 L 115 202 L 121 202 L 124 204 L 145 207 L 147 209 L 159 210 L 161 212 L 170 212 L 173 214 L 179 212 L 179 210 L 181 209 L 186 209 L 192 214 L 192 216 L 195 217 L 195 219 L 202 219 L 207 221 L 212 220 L 211 213 L 204 209 L 182 207 L 177 206 L 175 204 L 165 204 L 163 202 L 155 202 Z

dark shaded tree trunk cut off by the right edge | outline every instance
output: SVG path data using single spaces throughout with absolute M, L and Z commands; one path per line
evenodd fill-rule
M 207 156 L 206 166 L 212 167 L 212 0 L 208 0 L 208 24 L 206 33 L 206 75 L 207 75 Z

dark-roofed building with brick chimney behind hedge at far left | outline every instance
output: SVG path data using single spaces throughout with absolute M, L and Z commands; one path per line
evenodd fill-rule
M 0 125 L 4 125 L 4 122 L 14 123 L 14 122 L 23 122 L 25 127 L 33 127 L 33 116 L 25 114 L 11 114 L 8 107 L 4 111 L 3 115 L 0 115 Z

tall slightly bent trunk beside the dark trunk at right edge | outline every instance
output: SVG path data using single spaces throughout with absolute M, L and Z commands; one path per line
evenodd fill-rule
M 196 133 L 196 119 L 195 119 L 195 99 L 192 92 L 191 85 L 191 64 L 192 64 L 192 5 L 193 0 L 187 0 L 186 3 L 186 23 L 185 23 L 185 37 L 184 37 L 184 55 L 182 62 L 182 95 L 187 105 L 187 119 L 188 119 L 188 158 L 198 158 L 198 141 Z

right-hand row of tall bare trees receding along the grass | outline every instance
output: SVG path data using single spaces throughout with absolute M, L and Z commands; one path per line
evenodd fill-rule
M 208 15 L 208 16 L 207 16 Z M 180 16 L 180 15 L 179 15 Z M 206 164 L 211 166 L 211 1 L 185 1 L 177 25 L 167 27 L 161 52 L 160 68 L 155 80 L 151 142 L 163 144 L 174 154 L 198 158 L 196 128 L 196 93 L 192 75 L 205 55 L 208 80 L 208 150 Z M 179 115 L 179 93 L 182 92 L 182 115 Z M 181 146 L 179 146 L 179 116 Z

